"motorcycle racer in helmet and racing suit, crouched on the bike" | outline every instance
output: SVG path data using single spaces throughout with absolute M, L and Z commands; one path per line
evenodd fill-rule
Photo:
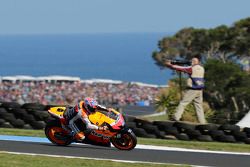
M 108 129 L 107 126 L 98 127 L 90 122 L 88 116 L 95 113 L 97 110 L 106 112 L 111 111 L 110 108 L 99 105 L 95 99 L 87 97 L 76 104 L 74 107 L 67 108 L 67 110 L 63 114 L 63 117 L 60 119 L 61 124 L 65 129 L 70 128 L 70 130 L 72 131 L 72 136 L 74 136 L 76 140 L 83 140 L 85 138 L 85 135 L 83 132 L 80 132 L 75 124 L 75 121 L 78 119 L 82 120 L 82 122 L 86 125 L 86 129 L 102 131 Z

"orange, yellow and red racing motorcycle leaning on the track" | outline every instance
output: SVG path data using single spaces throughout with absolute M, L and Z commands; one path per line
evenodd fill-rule
M 133 131 L 125 126 L 125 120 L 121 113 L 112 109 L 110 112 L 96 111 L 89 115 L 89 120 L 97 126 L 107 126 L 108 130 L 86 130 L 79 119 L 76 121 L 78 129 L 85 134 L 85 139 L 77 141 L 70 131 L 62 127 L 60 118 L 67 107 L 51 107 L 48 109 L 53 119 L 45 126 L 45 135 L 53 143 L 59 146 L 67 146 L 73 142 L 100 145 L 110 147 L 111 143 L 120 150 L 132 150 L 137 144 L 137 138 Z

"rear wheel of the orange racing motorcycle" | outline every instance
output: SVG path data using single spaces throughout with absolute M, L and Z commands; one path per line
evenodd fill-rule
M 47 123 L 45 135 L 53 144 L 59 146 L 67 146 L 73 141 L 68 132 L 61 127 L 61 123 L 58 120 L 52 120 Z

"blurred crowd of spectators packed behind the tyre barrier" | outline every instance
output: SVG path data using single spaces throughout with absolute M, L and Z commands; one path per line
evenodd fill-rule
M 136 83 L 87 82 L 0 82 L 0 101 L 74 105 L 94 97 L 103 105 L 145 105 L 153 103 L 157 86 Z

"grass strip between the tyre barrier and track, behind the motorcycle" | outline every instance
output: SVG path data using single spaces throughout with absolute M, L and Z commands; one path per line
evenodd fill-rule
M 0 128 L 0 134 L 45 137 L 43 130 Z M 250 152 L 250 145 L 239 144 L 239 143 L 198 142 L 198 141 L 138 138 L 138 144 L 190 148 L 190 149 L 204 149 L 204 150 L 214 150 L 214 151 Z

